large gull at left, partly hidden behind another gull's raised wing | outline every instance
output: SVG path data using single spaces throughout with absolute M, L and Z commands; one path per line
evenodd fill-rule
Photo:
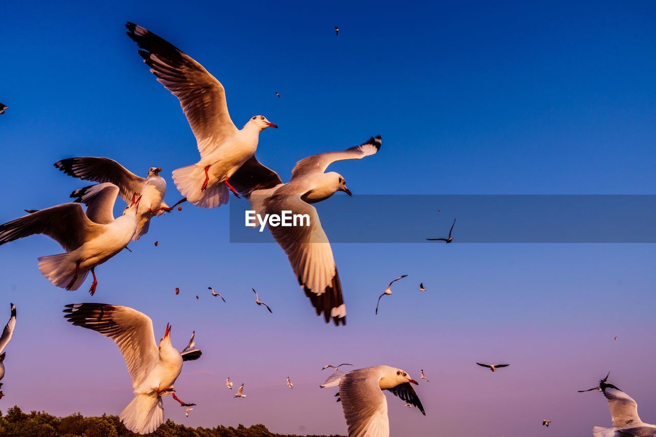
M 148 176 L 139 177 L 117 163 L 106 157 L 72 157 L 62 159 L 54 163 L 54 166 L 72 177 L 94 182 L 111 182 L 119 187 L 121 199 L 128 205 L 132 203 L 134 193 L 141 193 L 142 198 L 136 213 L 136 232 L 133 239 L 139 239 L 148 232 L 150 219 L 163 213 L 170 213 L 178 203 L 170 207 L 164 201 L 166 194 L 166 181 L 159 176 L 161 167 L 150 167 Z M 89 189 L 91 187 L 83 188 Z M 81 190 L 71 194 L 72 198 L 79 197 Z M 157 242 L 155 242 L 157 245 Z

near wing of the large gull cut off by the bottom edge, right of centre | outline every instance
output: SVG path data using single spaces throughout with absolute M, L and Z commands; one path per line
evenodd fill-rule
M 339 396 L 350 437 L 388 436 L 387 398 L 374 369 L 354 370 L 339 383 Z

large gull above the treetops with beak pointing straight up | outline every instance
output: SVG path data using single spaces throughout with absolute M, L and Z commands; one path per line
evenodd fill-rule
M 178 352 L 171 344 L 171 326 L 155 342 L 153 322 L 146 314 L 127 306 L 100 303 L 68 304 L 64 318 L 75 326 L 92 329 L 110 337 L 119 346 L 132 379 L 134 399 L 119 418 L 137 434 L 154 432 L 164 422 L 162 396 L 173 394 L 182 407 L 192 407 L 176 396 L 173 385 L 182 371 L 182 362 L 200 356 Z

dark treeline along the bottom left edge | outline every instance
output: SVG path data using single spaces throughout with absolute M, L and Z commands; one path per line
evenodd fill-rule
M 0 411 L 0 436 L 3 437 L 124 437 L 136 436 L 127 430 L 118 416 L 83 417 L 80 413 L 66 417 L 55 417 L 43 411 L 24 413 L 18 406 L 11 407 L 7 414 Z M 167 420 L 150 434 L 155 437 L 298 437 L 274 434 L 264 425 L 249 428 L 239 427 L 190 428 Z M 309 437 L 309 436 L 308 436 Z M 313 436 L 314 437 L 314 436 Z M 327 436 L 316 436 L 327 437 Z M 336 437 L 336 436 L 330 436 Z

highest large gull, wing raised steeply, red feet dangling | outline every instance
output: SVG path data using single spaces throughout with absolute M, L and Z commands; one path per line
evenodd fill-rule
M 260 132 L 277 128 L 264 115 L 251 117 L 239 130 L 230 119 L 226 91 L 201 64 L 141 26 L 127 23 L 127 35 L 140 47 L 150 72 L 179 100 L 201 159 L 173 171 L 173 182 L 194 205 L 214 208 L 228 202 L 228 179 L 255 156 Z

